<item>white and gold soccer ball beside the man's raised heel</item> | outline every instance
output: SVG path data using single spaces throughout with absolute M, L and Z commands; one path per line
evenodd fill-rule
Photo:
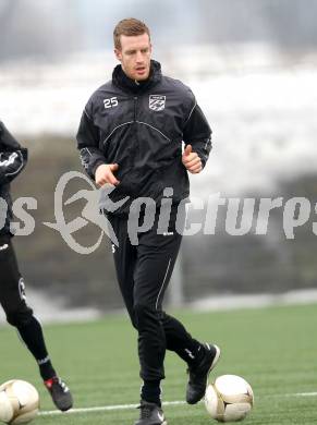
M 222 375 L 209 384 L 205 394 L 207 412 L 219 422 L 245 418 L 254 403 L 251 385 L 240 376 Z

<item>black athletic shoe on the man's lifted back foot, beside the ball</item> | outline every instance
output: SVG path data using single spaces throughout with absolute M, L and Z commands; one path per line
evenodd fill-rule
M 186 390 L 186 402 L 188 404 L 196 404 L 205 396 L 209 373 L 214 369 L 220 356 L 219 347 L 207 343 L 203 347 L 206 349 L 204 359 L 198 366 L 190 367 L 187 371 L 190 380 Z

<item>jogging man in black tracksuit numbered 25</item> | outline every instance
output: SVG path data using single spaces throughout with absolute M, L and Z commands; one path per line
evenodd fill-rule
M 112 245 L 118 281 L 138 332 L 143 386 L 141 416 L 135 425 L 163 425 L 160 381 L 164 378 L 166 350 L 175 352 L 188 366 L 190 404 L 204 397 L 208 374 L 220 355 L 216 344 L 192 338 L 162 309 L 182 240 L 176 218 L 182 210 L 179 206 L 190 194 L 187 172 L 199 173 L 205 167 L 211 130 L 192 90 L 163 76 L 160 63 L 151 60 L 150 33 L 143 22 L 123 20 L 113 36 L 114 53 L 121 63 L 114 68 L 112 80 L 88 100 L 77 146 L 83 166 L 96 184 L 115 187 L 109 197 L 118 208 L 107 209 L 106 205 L 105 214 L 119 241 L 118 246 Z M 129 215 L 134 199 L 141 197 L 155 203 L 155 222 L 150 230 L 139 232 L 135 244 L 129 234 Z M 164 230 L 159 220 L 163 197 L 172 199 Z M 147 208 L 137 212 L 142 223 Z

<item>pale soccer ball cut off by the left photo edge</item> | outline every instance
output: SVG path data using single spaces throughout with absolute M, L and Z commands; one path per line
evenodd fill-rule
M 33 385 L 12 379 L 0 386 L 0 421 L 10 425 L 27 424 L 38 409 L 39 397 Z

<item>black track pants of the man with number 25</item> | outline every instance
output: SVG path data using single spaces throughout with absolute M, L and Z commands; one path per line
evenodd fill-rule
M 112 245 L 118 281 L 133 326 L 138 331 L 141 377 L 164 378 L 166 349 L 187 360 L 199 345 L 184 326 L 162 311 L 162 301 L 180 250 L 182 235 L 171 219 L 168 234 L 157 234 L 157 219 L 151 230 L 138 234 L 132 245 L 127 219 L 108 215 L 119 246 Z M 192 354 L 193 355 L 193 354 Z M 191 357 L 190 357 L 191 359 Z

